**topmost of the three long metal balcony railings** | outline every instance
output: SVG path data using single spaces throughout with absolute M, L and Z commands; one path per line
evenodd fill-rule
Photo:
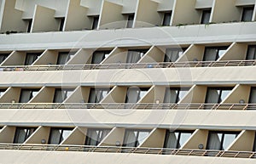
M 85 65 L 12 65 L 0 66 L 0 71 L 65 71 L 65 70 L 106 70 L 106 69 L 145 69 L 145 68 L 179 68 L 179 67 L 218 67 L 250 66 L 256 60 L 226 61 L 186 61 L 161 63 L 119 63 L 119 64 L 85 64 Z

